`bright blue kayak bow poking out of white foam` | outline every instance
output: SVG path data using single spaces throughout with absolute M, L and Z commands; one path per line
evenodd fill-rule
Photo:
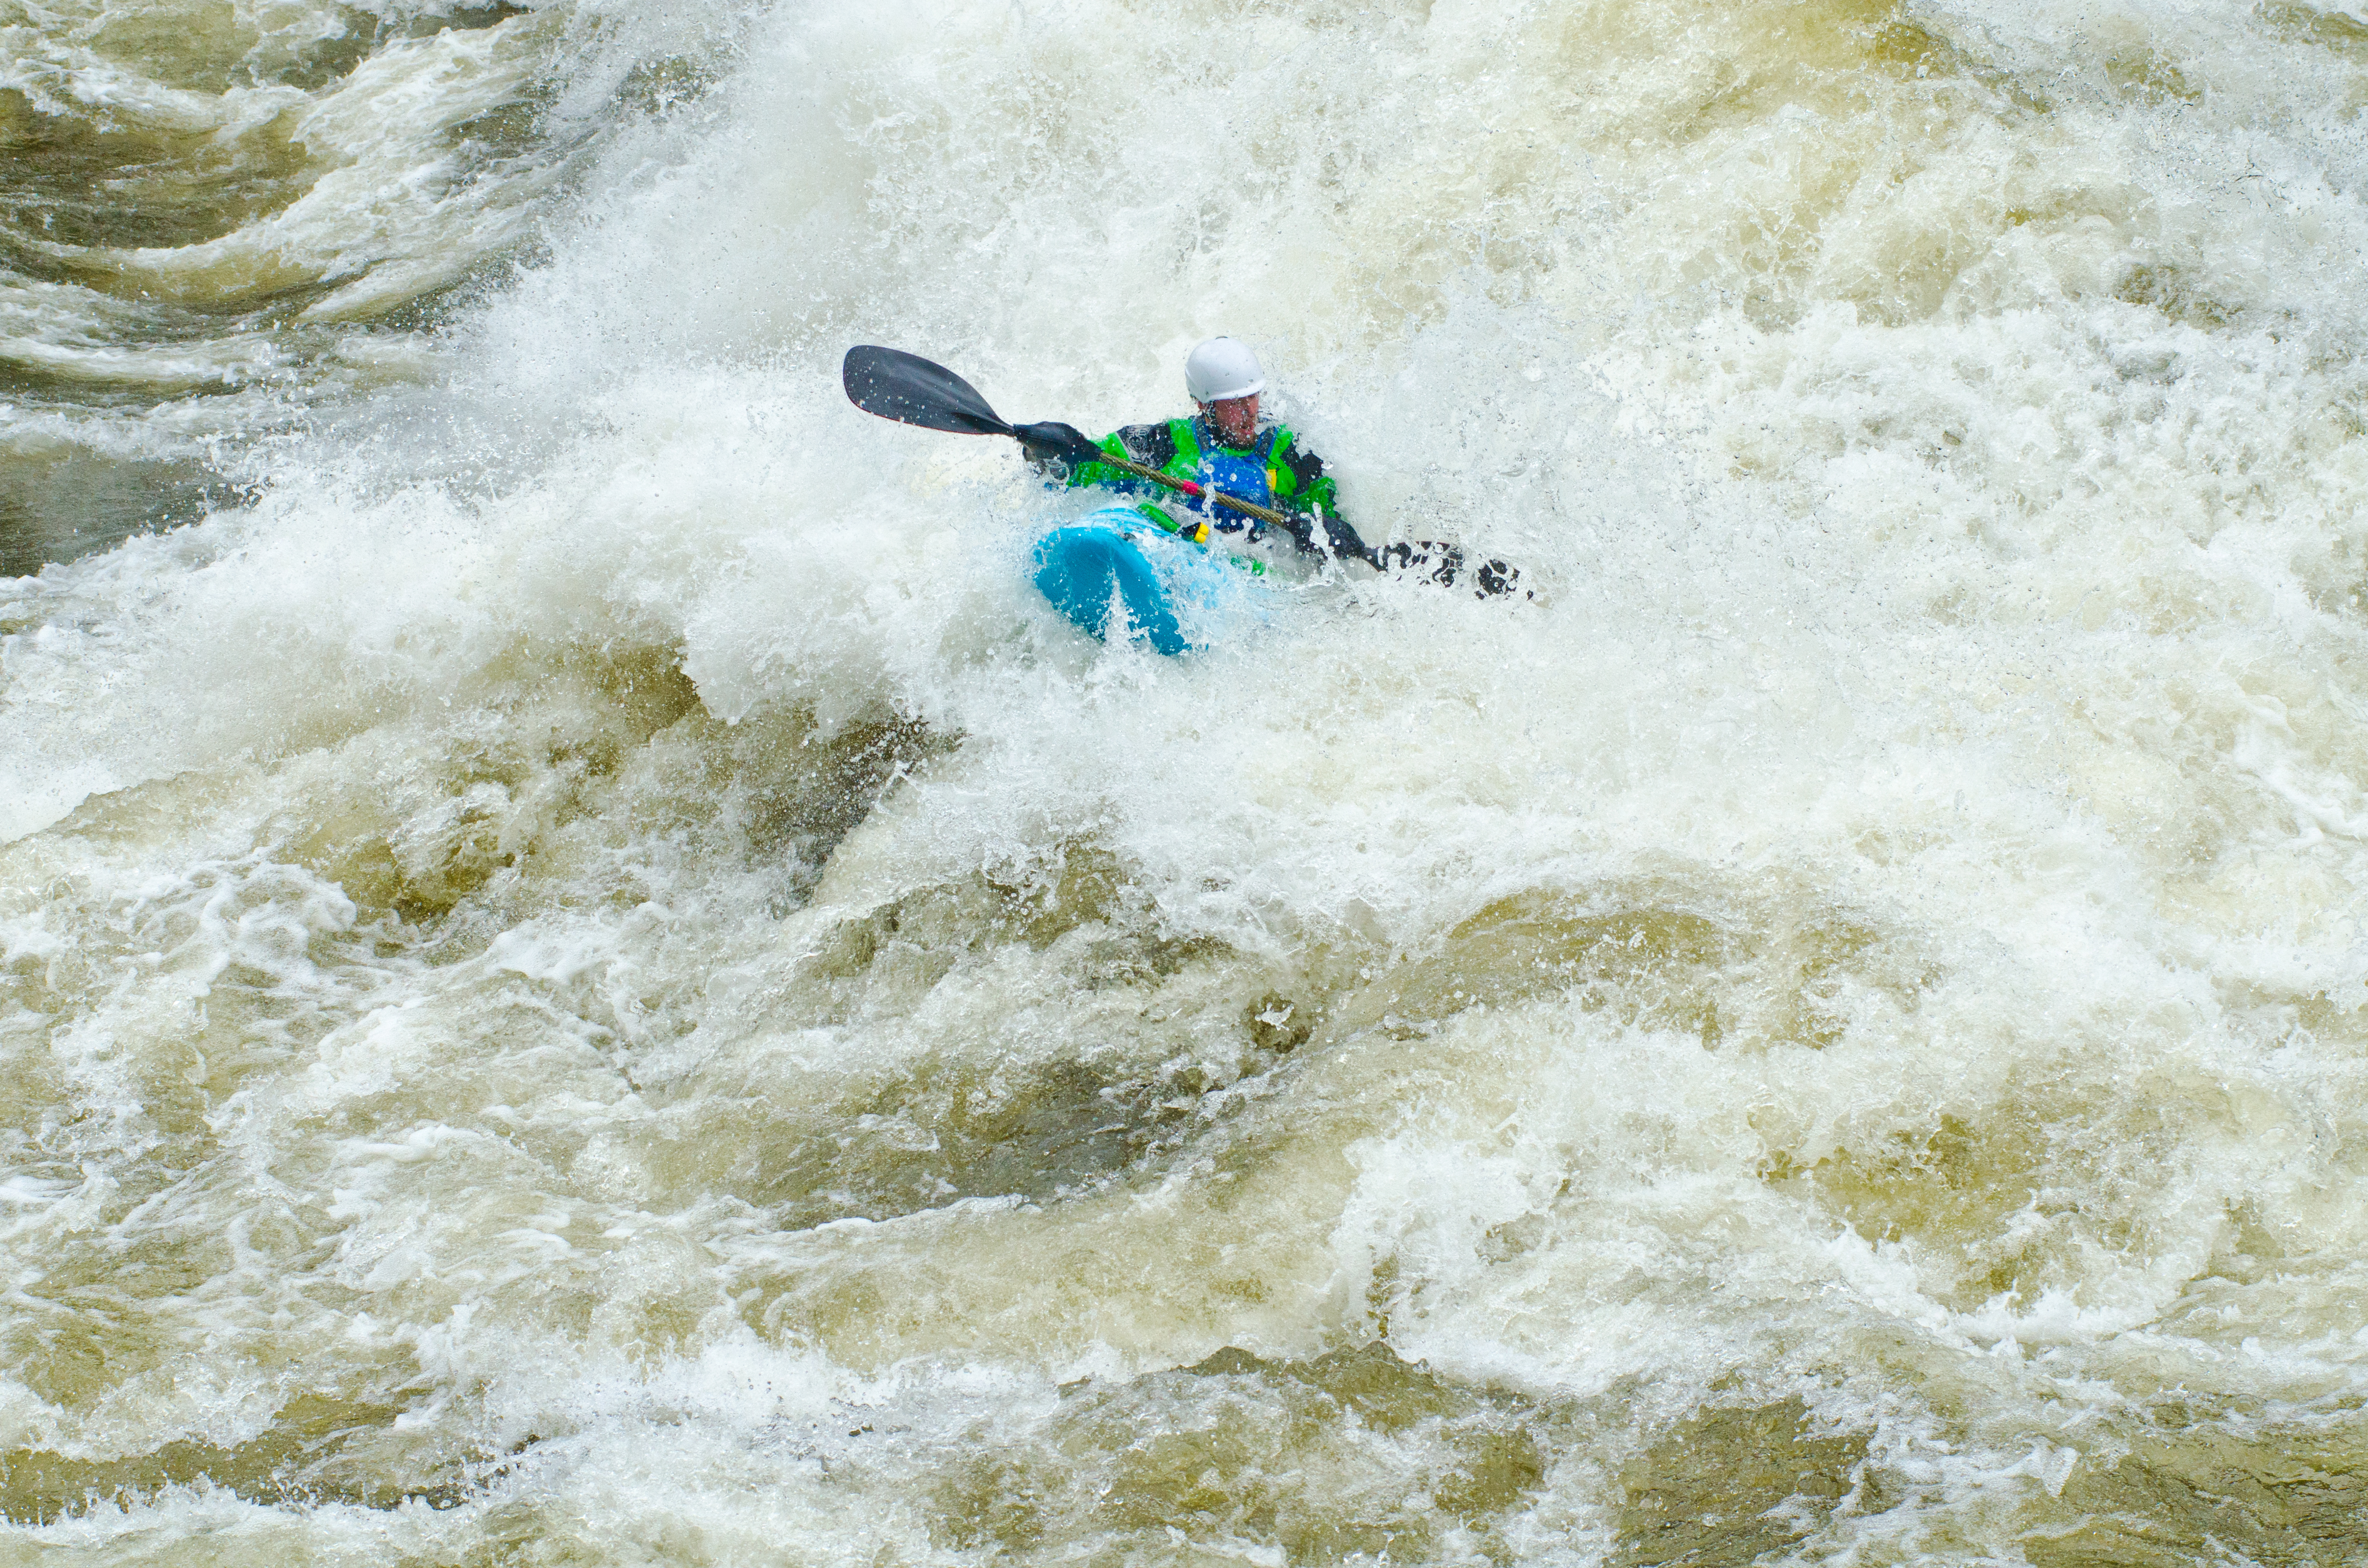
M 1160 654 L 1184 654 L 1267 618 L 1265 568 L 1165 533 L 1134 507 L 1103 507 L 1035 547 L 1035 585 L 1087 635 L 1125 630 Z

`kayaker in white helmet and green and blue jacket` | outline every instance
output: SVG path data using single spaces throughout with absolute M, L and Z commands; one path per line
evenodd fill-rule
M 1428 564 L 1423 557 L 1435 552 L 1435 545 L 1373 550 L 1357 538 L 1357 531 L 1340 516 L 1340 502 L 1333 493 L 1331 474 L 1324 471 L 1324 460 L 1300 445 L 1300 438 L 1288 426 L 1260 424 L 1257 396 L 1265 388 L 1267 372 L 1260 369 L 1257 355 L 1250 353 L 1248 343 L 1222 336 L 1208 339 L 1184 355 L 1184 391 L 1191 393 L 1193 405 L 1201 410 L 1198 415 L 1167 419 L 1165 424 L 1130 424 L 1103 436 L 1096 445 L 1111 457 L 1130 457 L 1175 478 L 1189 478 L 1222 495 L 1288 514 L 1291 540 L 1310 554 L 1366 561 L 1378 568 L 1388 568 L 1392 557 L 1397 557 L 1397 566 Z M 1208 533 L 1241 533 L 1250 528 L 1255 538 L 1265 528 L 1238 512 L 1215 507 L 1205 500 L 1158 490 L 1125 469 L 1099 462 L 1063 464 L 1037 448 L 1030 448 L 1030 457 L 1047 476 L 1070 488 L 1153 490 L 1160 500 L 1144 502 L 1139 509 L 1167 533 L 1182 528 L 1205 540 Z M 1437 576 L 1442 580 L 1452 578 L 1456 564 L 1461 561 L 1449 564 L 1442 559 Z

